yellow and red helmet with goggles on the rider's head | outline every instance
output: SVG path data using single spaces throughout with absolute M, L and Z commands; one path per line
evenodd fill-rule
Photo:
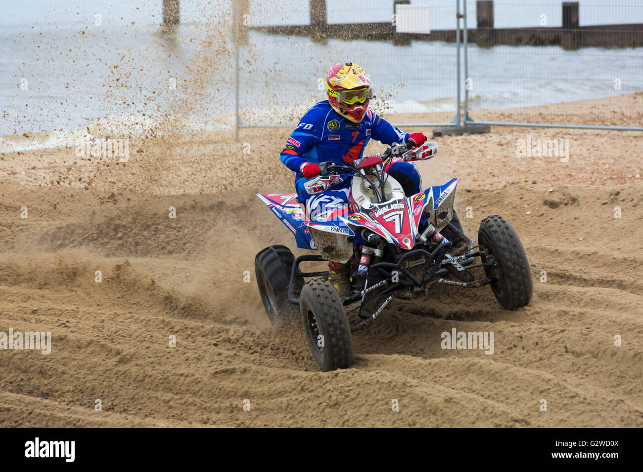
M 331 107 L 341 116 L 359 123 L 368 102 L 375 98 L 370 76 L 357 64 L 335 64 L 326 76 L 326 93 Z

